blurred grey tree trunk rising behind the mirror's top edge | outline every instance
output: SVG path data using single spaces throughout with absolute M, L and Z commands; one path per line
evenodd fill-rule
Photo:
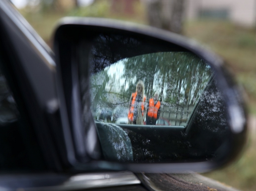
M 149 25 L 182 33 L 186 0 L 143 0 Z

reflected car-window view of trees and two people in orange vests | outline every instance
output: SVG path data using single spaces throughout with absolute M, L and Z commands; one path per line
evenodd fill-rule
M 211 76 L 189 52 L 124 58 L 91 76 L 91 109 L 108 123 L 186 126 Z

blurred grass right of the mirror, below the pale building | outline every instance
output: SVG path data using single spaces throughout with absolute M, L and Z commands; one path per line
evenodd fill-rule
M 221 55 L 235 80 L 247 93 L 249 113 L 256 114 L 255 29 L 235 26 L 228 21 L 186 22 L 184 35 Z

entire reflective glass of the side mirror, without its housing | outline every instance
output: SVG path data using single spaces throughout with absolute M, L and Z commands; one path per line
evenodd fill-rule
M 222 157 L 229 144 L 227 112 L 205 60 L 164 41 L 107 33 L 80 41 L 76 57 L 83 119 L 89 102 L 104 159 Z

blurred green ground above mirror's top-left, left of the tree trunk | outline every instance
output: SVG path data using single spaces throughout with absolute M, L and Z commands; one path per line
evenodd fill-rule
M 113 10 L 113 7 L 111 6 L 113 0 L 97 0 L 86 7 L 76 7 L 74 3 L 64 2 L 71 1 L 66 0 L 63 1 L 62 4 L 55 3 L 53 8 L 49 8 L 49 5 L 47 5 L 48 8 L 44 8 L 46 5 L 32 4 L 22 10 L 19 10 L 50 47 L 54 29 L 59 19 L 65 16 L 101 17 L 131 21 L 141 24 L 147 23 L 145 7 L 140 3 L 140 1 L 133 2 L 132 13 L 125 13 L 125 11 L 121 8 Z

